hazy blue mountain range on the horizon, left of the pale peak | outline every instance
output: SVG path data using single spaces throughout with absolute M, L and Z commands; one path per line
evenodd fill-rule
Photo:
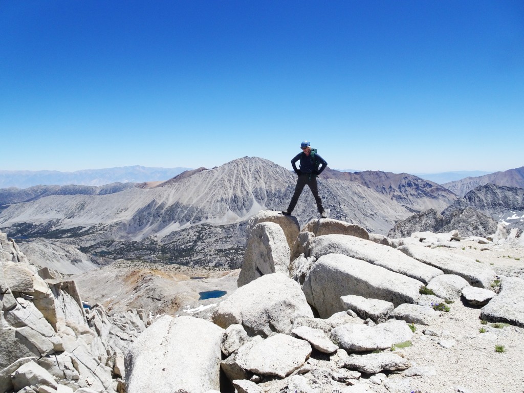
M 0 170 L 0 188 L 27 188 L 40 184 L 104 185 L 115 182 L 162 181 L 177 176 L 177 174 L 188 169 L 190 168 L 148 168 L 135 165 L 105 169 L 85 169 L 74 172 Z

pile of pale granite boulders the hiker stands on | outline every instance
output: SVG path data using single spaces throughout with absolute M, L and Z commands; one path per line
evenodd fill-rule
M 163 316 L 130 345 L 128 393 L 383 391 L 373 386 L 391 375 L 431 373 L 388 350 L 441 318 L 432 304 L 462 297 L 483 306 L 485 320 L 524 326 L 524 281 L 503 277 L 497 294 L 494 270 L 419 239 L 330 219 L 301 231 L 294 217 L 268 211 L 247 234 L 239 288 L 212 322 Z

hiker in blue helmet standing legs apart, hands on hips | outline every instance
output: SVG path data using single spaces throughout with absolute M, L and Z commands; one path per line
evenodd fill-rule
M 319 190 L 316 185 L 316 177 L 322 173 L 326 166 L 328 166 L 328 163 L 316 153 L 316 149 L 311 149 L 309 141 L 304 140 L 300 144 L 300 148 L 302 149 L 302 152 L 297 154 L 291 160 L 293 170 L 298 174 L 297 185 L 291 198 L 291 202 L 289 202 L 288 210 L 283 211 L 282 214 L 291 215 L 293 209 L 297 205 L 298 198 L 302 193 L 304 186 L 308 184 L 313 193 L 313 197 L 315 198 L 316 208 L 319 210 L 320 216 L 325 219 L 328 215 L 326 215 L 324 206 L 322 206 L 322 200 L 320 199 Z M 297 169 L 297 166 L 295 165 L 295 162 L 298 160 L 300 160 L 300 169 Z M 320 164 L 322 164 L 322 166 L 319 169 Z

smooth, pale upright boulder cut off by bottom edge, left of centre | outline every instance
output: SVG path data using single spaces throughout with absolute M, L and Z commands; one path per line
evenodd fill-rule
M 220 390 L 223 334 L 202 319 L 162 316 L 126 353 L 127 393 Z

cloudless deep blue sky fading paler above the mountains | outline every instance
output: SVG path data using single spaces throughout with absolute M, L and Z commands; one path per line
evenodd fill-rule
M 0 169 L 524 165 L 524 2 L 0 0 Z

